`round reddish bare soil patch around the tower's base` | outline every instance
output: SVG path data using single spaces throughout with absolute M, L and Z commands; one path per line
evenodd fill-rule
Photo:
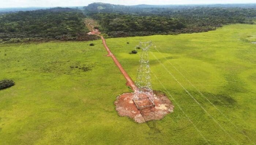
M 116 111 L 120 116 L 127 116 L 135 122 L 143 123 L 151 120 L 160 120 L 165 115 L 173 112 L 173 104 L 165 94 L 160 91 L 154 91 L 155 107 L 139 109 L 133 102 L 134 93 L 124 93 L 117 97 L 114 102 Z

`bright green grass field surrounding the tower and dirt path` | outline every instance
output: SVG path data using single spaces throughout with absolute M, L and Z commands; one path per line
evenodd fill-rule
M 115 111 L 129 88 L 101 40 L 2 44 L 0 80 L 16 84 L 0 91 L 0 144 L 255 144 L 255 34 L 256 25 L 233 24 L 106 39 L 133 80 L 141 50 L 129 52 L 150 40 L 159 51 L 150 53 L 153 88 L 175 108 L 142 124 Z

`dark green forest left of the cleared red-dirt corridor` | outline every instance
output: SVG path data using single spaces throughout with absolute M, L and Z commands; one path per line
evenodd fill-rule
M 93 40 L 83 13 L 71 8 L 20 11 L 0 17 L 0 42 L 31 40 Z

